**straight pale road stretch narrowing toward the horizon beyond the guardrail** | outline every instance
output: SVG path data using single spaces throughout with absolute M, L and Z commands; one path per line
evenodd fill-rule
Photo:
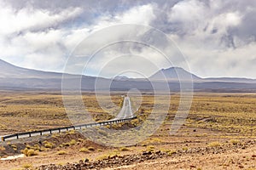
M 134 117 L 131 111 L 131 99 L 129 97 L 125 97 L 121 111 L 119 111 L 119 114 L 113 120 L 120 120 L 131 117 Z

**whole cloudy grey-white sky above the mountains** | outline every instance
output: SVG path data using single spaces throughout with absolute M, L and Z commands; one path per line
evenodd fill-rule
M 0 59 L 102 77 L 148 77 L 180 66 L 199 77 L 256 78 L 255 15 L 252 0 L 0 0 Z M 160 51 L 137 42 L 109 45 L 124 37 Z M 71 65 L 78 54 L 81 61 Z

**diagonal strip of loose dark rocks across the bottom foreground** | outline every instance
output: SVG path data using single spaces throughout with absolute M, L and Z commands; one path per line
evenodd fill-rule
M 88 159 L 81 160 L 76 163 L 67 163 L 66 165 L 42 165 L 37 167 L 38 170 L 84 170 L 84 169 L 102 169 L 106 167 L 122 167 L 128 166 L 136 163 L 142 163 L 144 161 L 152 161 L 158 160 L 162 158 L 175 158 L 177 156 L 187 156 L 191 154 L 198 154 L 201 156 L 209 156 L 209 155 L 220 155 L 222 153 L 237 153 L 238 150 L 246 150 L 252 146 L 255 146 L 255 140 L 248 140 L 242 144 L 226 144 L 224 146 L 218 147 L 205 147 L 205 148 L 193 148 L 188 150 L 176 150 L 172 152 L 166 151 L 144 151 L 141 154 L 134 154 L 134 155 L 126 155 L 126 156 L 108 156 L 105 159 L 98 160 L 98 161 L 89 161 Z M 252 154 L 247 159 L 249 161 L 254 161 L 256 155 Z M 239 166 L 238 166 L 239 167 Z M 190 165 L 189 168 L 195 168 L 194 165 Z M 243 166 L 240 165 L 240 168 Z

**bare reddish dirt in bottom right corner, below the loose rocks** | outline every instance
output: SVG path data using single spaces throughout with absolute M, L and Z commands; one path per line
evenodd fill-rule
M 129 166 L 107 167 L 105 170 L 170 170 L 170 169 L 256 169 L 256 146 L 218 154 L 188 154 L 134 163 Z

